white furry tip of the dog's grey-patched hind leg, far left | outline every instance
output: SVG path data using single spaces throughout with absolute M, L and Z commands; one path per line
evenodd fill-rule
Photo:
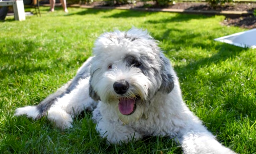
M 14 116 L 27 115 L 28 118 L 37 119 L 40 115 L 40 112 L 36 106 L 25 106 L 20 107 L 15 110 Z

